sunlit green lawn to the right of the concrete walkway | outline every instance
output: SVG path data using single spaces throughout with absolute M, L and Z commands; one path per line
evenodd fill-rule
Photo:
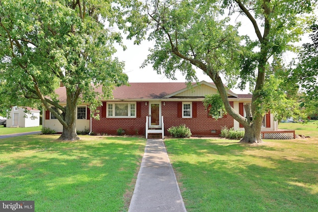
M 297 131 L 314 136 L 316 128 Z M 260 145 L 204 138 L 164 142 L 188 212 L 318 211 L 317 137 Z

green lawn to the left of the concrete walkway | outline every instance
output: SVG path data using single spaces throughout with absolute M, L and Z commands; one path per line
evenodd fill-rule
M 127 211 L 145 139 L 57 138 L 0 139 L 0 200 L 34 200 L 36 212 Z

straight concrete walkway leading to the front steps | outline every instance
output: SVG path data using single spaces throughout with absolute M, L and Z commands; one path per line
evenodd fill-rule
M 186 212 L 162 139 L 149 139 L 128 212 Z

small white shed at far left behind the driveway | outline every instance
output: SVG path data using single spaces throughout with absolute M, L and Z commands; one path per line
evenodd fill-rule
M 25 113 L 24 108 L 14 106 L 6 118 L 6 127 L 38 127 L 40 126 L 40 111 L 27 107 L 30 113 Z

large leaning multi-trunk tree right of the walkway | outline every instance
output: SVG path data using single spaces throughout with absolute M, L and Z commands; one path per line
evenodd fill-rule
M 273 75 L 269 59 L 280 58 L 293 50 L 312 11 L 310 0 L 150 0 L 147 1 L 152 29 L 149 39 L 156 40 L 145 61 L 158 72 L 174 78 L 181 71 L 187 81 L 196 79 L 195 67 L 215 83 L 226 111 L 244 126 L 242 141 L 260 142 L 263 116 L 268 109 L 266 80 Z M 239 36 L 237 25 L 230 24 L 230 15 L 244 15 L 252 24 L 253 36 Z M 224 18 L 225 17 L 225 18 Z M 240 79 L 252 87 L 252 102 L 244 106 L 242 117 L 230 105 L 227 88 Z M 271 100 L 272 101 L 272 100 Z

